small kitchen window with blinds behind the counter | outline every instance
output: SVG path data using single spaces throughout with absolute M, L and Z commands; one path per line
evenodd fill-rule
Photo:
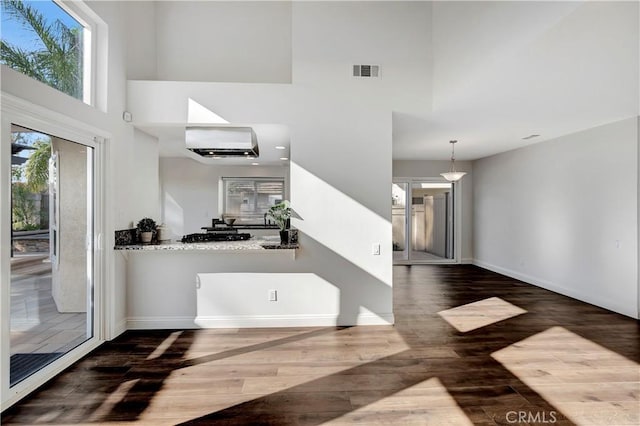
M 264 223 L 269 207 L 284 200 L 284 179 L 273 177 L 222 178 L 225 217 L 237 224 Z

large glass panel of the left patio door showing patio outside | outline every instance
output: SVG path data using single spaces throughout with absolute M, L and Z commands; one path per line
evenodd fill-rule
M 12 125 L 10 385 L 93 336 L 93 148 Z

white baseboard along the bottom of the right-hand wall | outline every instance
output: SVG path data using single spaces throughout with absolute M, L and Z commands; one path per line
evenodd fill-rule
M 491 263 L 483 262 L 478 259 L 474 259 L 473 264 L 481 268 L 488 269 L 489 271 L 496 272 L 501 275 L 506 275 L 507 277 L 515 278 L 527 284 L 532 284 L 532 285 L 535 285 L 536 287 L 541 287 L 541 288 L 544 288 L 545 290 L 553 291 L 554 293 L 559 293 L 564 296 L 568 296 L 573 299 L 580 300 L 581 302 L 589 303 L 590 305 L 599 306 L 601 308 L 608 309 L 610 311 L 617 312 L 619 314 L 626 315 L 634 319 L 638 319 L 637 312 L 633 312 L 628 307 L 621 306 L 619 303 L 616 303 L 612 300 L 604 299 L 604 298 L 600 298 L 599 300 L 594 300 L 589 295 L 585 295 L 584 293 L 575 291 L 572 288 L 564 287 L 562 285 L 553 283 L 551 281 L 534 277 L 532 275 L 523 274 L 521 272 L 514 271 L 511 269 L 503 268 L 501 266 L 493 265 Z

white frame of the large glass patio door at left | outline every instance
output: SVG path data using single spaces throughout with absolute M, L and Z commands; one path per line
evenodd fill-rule
M 104 341 L 103 324 L 105 315 L 105 250 L 103 235 L 105 230 L 105 155 L 109 134 L 100 129 L 51 111 L 15 96 L 0 95 L 2 121 L 0 124 L 0 390 L 1 409 L 5 410 L 17 401 L 35 391 L 64 369 L 80 360 Z M 10 368 L 10 317 L 11 317 L 11 125 L 17 124 L 29 129 L 50 134 L 93 148 L 93 336 L 67 352 L 64 356 L 46 365 L 38 372 L 17 383 L 9 385 Z

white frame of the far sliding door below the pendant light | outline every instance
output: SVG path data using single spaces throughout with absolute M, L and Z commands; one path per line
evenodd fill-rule
M 411 224 L 411 189 L 414 183 L 451 183 L 453 192 L 452 203 L 453 211 L 450 213 L 453 215 L 453 259 L 442 260 L 415 260 L 411 257 L 411 233 L 413 227 Z M 406 183 L 409 190 L 405 194 L 405 244 L 407 247 L 407 259 L 394 260 L 394 265 L 428 265 L 428 264 L 459 264 L 462 259 L 462 186 L 464 185 L 462 180 L 457 182 L 449 182 L 442 177 L 394 177 L 392 184 L 394 183 Z

